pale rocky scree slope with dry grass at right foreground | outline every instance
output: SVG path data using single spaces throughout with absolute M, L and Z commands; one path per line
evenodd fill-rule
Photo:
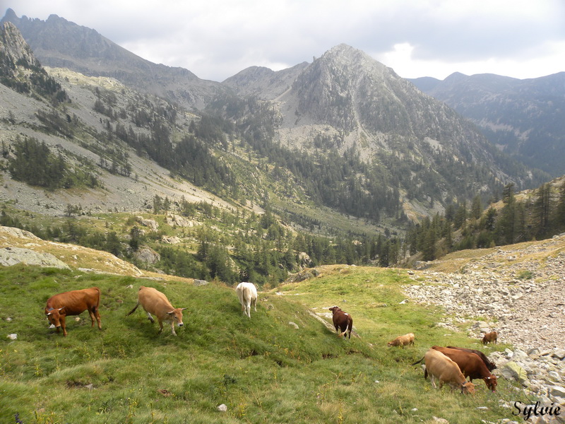
M 405 293 L 444 307 L 448 317 L 439 326 L 470 324 L 477 343 L 497 331 L 514 349 L 489 355 L 498 367 L 494 374 L 521 383 L 542 404 L 564 405 L 565 234 L 466 254 L 421 263 L 421 270 L 410 271 L 419 282 Z

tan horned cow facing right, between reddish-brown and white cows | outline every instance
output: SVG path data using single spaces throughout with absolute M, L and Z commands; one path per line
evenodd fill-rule
M 157 317 L 157 321 L 159 322 L 159 333 L 163 331 L 163 321 L 170 321 L 171 322 L 171 331 L 173 336 L 177 336 L 177 333 L 174 331 L 174 323 L 177 322 L 178 326 L 183 326 L 182 324 L 182 311 L 188 309 L 186 307 L 172 307 L 171 303 L 167 299 L 165 294 L 161 293 L 159 290 L 156 290 L 152 287 L 144 287 L 143 285 L 140 286 L 137 296 L 137 305 L 133 308 L 128 315 L 133 314 L 133 311 L 137 309 L 139 305 L 143 306 L 145 312 L 147 312 L 147 317 L 150 322 L 155 322 L 151 314 L 154 314 Z

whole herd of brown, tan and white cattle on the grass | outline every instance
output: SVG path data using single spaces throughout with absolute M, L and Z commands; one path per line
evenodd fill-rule
M 253 283 L 239 283 L 235 289 L 239 302 L 242 305 L 243 313 L 251 318 L 251 305 L 254 305 L 254 310 L 257 311 L 257 288 Z M 174 336 L 177 333 L 174 331 L 174 324 L 183 326 L 182 311 L 186 307 L 173 307 L 167 296 L 159 290 L 150 287 L 141 287 L 138 290 L 137 305 L 126 314 L 132 314 L 137 307 L 141 305 L 145 312 L 147 312 L 150 322 L 155 322 L 153 315 L 157 317 L 159 322 L 159 332 L 163 329 L 163 322 L 170 322 L 171 331 Z M 59 293 L 52 296 L 47 300 L 45 306 L 45 315 L 49 319 L 52 327 L 63 329 L 63 335 L 66 336 L 65 318 L 67 316 L 78 315 L 88 310 L 92 326 L 95 321 L 98 324 L 98 329 L 102 329 L 100 322 L 100 289 L 97 287 L 85 288 L 83 290 L 71 290 L 65 293 Z M 333 306 L 330 308 L 333 317 L 333 326 L 337 331 L 338 336 L 351 338 L 351 331 L 353 328 L 353 318 L 351 314 L 343 312 L 339 307 Z M 482 338 L 482 343 L 496 343 L 496 331 L 485 334 Z M 414 344 L 415 336 L 413 333 L 398 336 L 393 341 L 388 342 L 388 346 L 409 346 Z M 424 357 L 412 365 L 417 365 L 424 361 L 425 370 L 424 378 L 430 376 L 432 385 L 436 387 L 436 380 L 439 381 L 439 388 L 444 384 L 448 384 L 452 389 L 460 389 L 462 393 L 472 394 L 475 393 L 475 385 L 472 384 L 473 379 L 482 379 L 487 387 L 495 391 L 496 389 L 496 375 L 492 375 L 491 371 L 496 368 L 494 363 L 490 362 L 488 358 L 481 351 L 468 348 L 458 348 L 456 346 L 432 346 L 426 352 Z M 469 381 L 467 381 L 469 378 Z

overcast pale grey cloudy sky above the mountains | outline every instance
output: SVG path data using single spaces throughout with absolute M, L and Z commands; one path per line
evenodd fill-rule
M 1 0 L 54 13 L 138 56 L 223 81 L 345 43 L 404 78 L 453 72 L 536 78 L 565 71 L 564 0 Z M 4 13 L 3 13 L 4 15 Z

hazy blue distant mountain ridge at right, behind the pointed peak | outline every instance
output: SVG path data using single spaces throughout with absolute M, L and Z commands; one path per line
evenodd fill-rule
M 565 72 L 525 80 L 453 73 L 444 81 L 410 81 L 475 122 L 501 150 L 553 177 L 565 174 Z

